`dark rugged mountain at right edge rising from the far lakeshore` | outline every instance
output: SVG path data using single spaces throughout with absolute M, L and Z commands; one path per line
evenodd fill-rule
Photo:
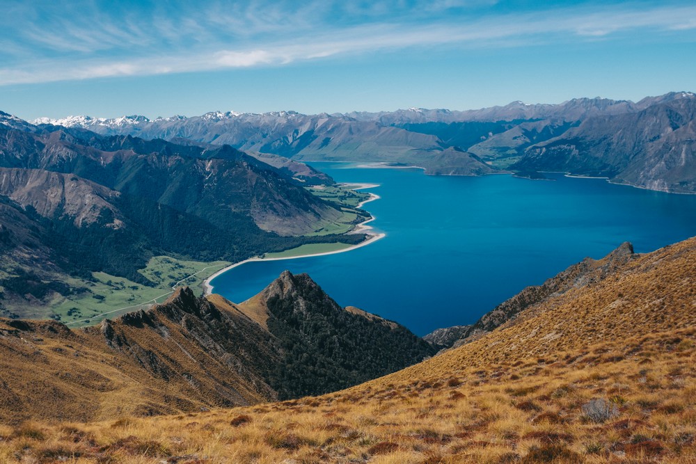
M 696 99 L 675 98 L 635 113 L 587 118 L 526 148 L 512 168 L 595 177 L 644 189 L 694 193 Z M 578 160 L 582 153 L 583 159 Z

